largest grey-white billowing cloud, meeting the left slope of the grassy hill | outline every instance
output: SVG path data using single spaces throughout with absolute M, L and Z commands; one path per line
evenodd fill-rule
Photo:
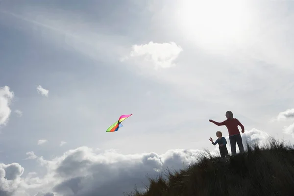
M 162 155 L 154 152 L 123 155 L 114 150 L 78 147 L 51 160 L 37 157 L 46 167 L 47 174 L 43 178 L 27 176 L 19 191 L 40 195 L 53 193 L 54 196 L 122 195 L 125 191 L 132 191 L 135 185 L 144 188 L 141 182 L 147 184 L 147 174 L 155 177 L 167 168 L 185 168 L 202 153 L 201 150 L 175 149 Z M 34 155 L 32 152 L 27 154 L 29 157 Z M 116 184 L 115 189 L 110 182 Z

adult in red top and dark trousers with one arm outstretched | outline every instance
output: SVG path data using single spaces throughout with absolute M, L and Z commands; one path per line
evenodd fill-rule
M 228 132 L 229 132 L 229 139 L 230 139 L 232 155 L 237 154 L 236 153 L 236 143 L 238 144 L 240 153 L 243 153 L 244 147 L 243 147 L 243 143 L 242 143 L 242 137 L 241 137 L 240 131 L 238 129 L 238 125 L 241 126 L 242 133 L 244 133 L 244 126 L 242 123 L 240 123 L 240 121 L 238 119 L 233 118 L 233 113 L 231 111 L 227 111 L 225 113 L 225 117 L 227 118 L 227 120 L 225 120 L 221 123 L 215 122 L 213 120 L 209 120 L 209 122 L 215 123 L 218 126 L 225 125 L 227 127 Z

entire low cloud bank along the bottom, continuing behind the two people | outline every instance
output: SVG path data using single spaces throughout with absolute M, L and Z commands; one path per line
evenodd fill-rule
M 247 142 L 265 144 L 267 137 L 265 132 L 257 129 L 245 130 L 242 134 L 244 146 Z M 218 151 L 216 147 L 212 153 Z M 78 147 L 49 160 L 32 151 L 26 154 L 26 160 L 35 160 L 44 167 L 44 171 L 42 174 L 29 172 L 21 178 L 24 169 L 19 164 L 0 165 L 0 191 L 6 194 L 4 196 L 12 196 L 13 193 L 14 196 L 123 195 L 123 192 L 133 191 L 135 186 L 144 190 L 148 184 L 147 176 L 157 177 L 166 169 L 183 169 L 206 152 L 171 149 L 164 154 L 123 155 L 115 150 Z

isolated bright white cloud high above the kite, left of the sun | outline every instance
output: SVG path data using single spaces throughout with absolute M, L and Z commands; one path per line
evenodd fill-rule
M 155 69 L 161 68 L 171 68 L 175 66 L 174 61 L 183 49 L 177 46 L 174 42 L 170 43 L 153 43 L 142 45 L 133 45 L 132 51 L 129 56 L 121 59 L 122 61 L 139 57 L 140 59 L 151 62 Z

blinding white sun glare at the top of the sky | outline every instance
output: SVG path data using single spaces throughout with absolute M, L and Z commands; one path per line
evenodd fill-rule
M 183 36 L 206 49 L 242 41 L 249 11 L 244 0 L 182 0 L 177 10 Z

